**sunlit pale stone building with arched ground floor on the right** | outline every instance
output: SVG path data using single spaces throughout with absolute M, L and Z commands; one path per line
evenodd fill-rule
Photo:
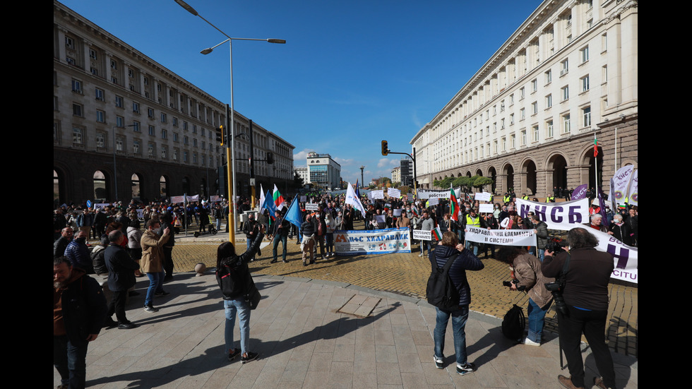
M 607 190 L 638 167 L 638 1 L 544 1 L 410 143 L 426 188 L 482 175 L 544 197 L 597 176 Z

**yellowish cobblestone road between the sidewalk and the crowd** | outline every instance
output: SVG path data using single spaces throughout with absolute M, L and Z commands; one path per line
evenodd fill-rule
M 358 226 L 356 226 L 358 228 Z M 361 227 L 362 228 L 362 227 Z M 177 237 L 173 251 L 175 271 L 192 271 L 197 263 L 208 268 L 216 265 L 216 249 L 227 239 L 225 234 L 202 235 L 199 238 Z M 241 241 L 242 239 L 242 241 Z M 266 244 L 268 241 L 266 241 Z M 237 234 L 237 246 L 245 248 L 243 234 Z M 381 254 L 369 256 L 335 256 L 314 265 L 302 265 L 300 246 L 295 239 L 287 245 L 288 263 L 269 263 L 272 258 L 270 246 L 262 248 L 262 255 L 250 263 L 253 274 L 306 277 L 317 280 L 347 282 L 352 285 L 410 297 L 425 298 L 425 285 L 430 275 L 430 263 L 419 257 L 417 244 L 413 253 Z M 239 250 L 240 251 L 240 250 Z M 279 259 L 281 247 L 279 249 Z M 508 265 L 492 258 L 480 257 L 485 268 L 468 272 L 472 298 L 470 309 L 501 318 L 512 304 L 526 308 L 528 297 L 522 292 L 511 292 L 502 286 L 509 280 Z M 557 333 L 554 309 L 546 316 L 546 330 Z M 609 325 L 607 330 L 609 347 L 620 354 L 638 357 L 638 288 L 626 285 L 610 285 Z

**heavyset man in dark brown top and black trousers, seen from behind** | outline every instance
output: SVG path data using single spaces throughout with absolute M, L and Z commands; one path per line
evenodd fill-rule
M 567 358 L 571 377 L 558 376 L 565 388 L 584 387 L 584 362 L 581 357 L 581 335 L 592 349 L 602 378 L 595 377 L 598 388 L 615 388 L 615 371 L 610 350 L 605 344 L 608 317 L 608 282 L 614 270 L 613 256 L 596 251 L 598 240 L 587 229 L 573 228 L 567 233 L 568 252 L 554 255 L 546 249 L 541 270 L 547 277 L 564 282 L 564 309 L 558 311 L 560 342 Z M 567 266 L 565 263 L 568 261 Z M 566 271 L 563 270 L 566 268 Z

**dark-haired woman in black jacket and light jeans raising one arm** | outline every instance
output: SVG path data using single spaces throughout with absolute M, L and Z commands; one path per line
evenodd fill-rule
M 247 263 L 251 261 L 251 258 L 255 255 L 259 249 L 260 244 L 262 244 L 262 239 L 264 238 L 264 225 L 256 225 L 253 236 L 256 238 L 252 242 L 250 248 L 238 256 L 235 252 L 235 247 L 231 242 L 222 243 L 217 250 L 216 256 L 216 269 L 217 272 L 224 266 L 229 266 L 232 270 L 234 277 L 233 280 L 247 280 L 250 275 L 250 270 Z M 232 277 L 231 274 L 227 277 Z M 222 280 L 217 276 L 217 282 L 219 286 L 222 287 Z M 250 306 L 247 301 L 245 301 L 245 285 L 239 285 L 237 282 L 232 285 L 232 290 L 224 290 L 222 287 L 224 310 L 226 314 L 225 319 L 225 352 L 228 353 L 228 360 L 232 361 L 241 355 L 241 362 L 243 364 L 252 361 L 257 358 L 256 352 L 249 351 L 250 344 Z M 225 284 L 227 285 L 227 284 Z M 238 313 L 239 325 L 240 325 L 240 349 L 233 347 L 233 328 L 235 326 L 235 316 Z

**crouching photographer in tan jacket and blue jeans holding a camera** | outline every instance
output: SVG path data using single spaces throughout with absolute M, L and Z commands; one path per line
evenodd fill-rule
M 502 285 L 529 295 L 529 306 L 526 309 L 529 316 L 529 332 L 523 344 L 540 346 L 545 314 L 553 302 L 553 297 L 545 284 L 554 282 L 554 279 L 545 277 L 538 258 L 521 247 L 502 246 L 495 258 L 512 266 L 512 281 L 505 281 Z

